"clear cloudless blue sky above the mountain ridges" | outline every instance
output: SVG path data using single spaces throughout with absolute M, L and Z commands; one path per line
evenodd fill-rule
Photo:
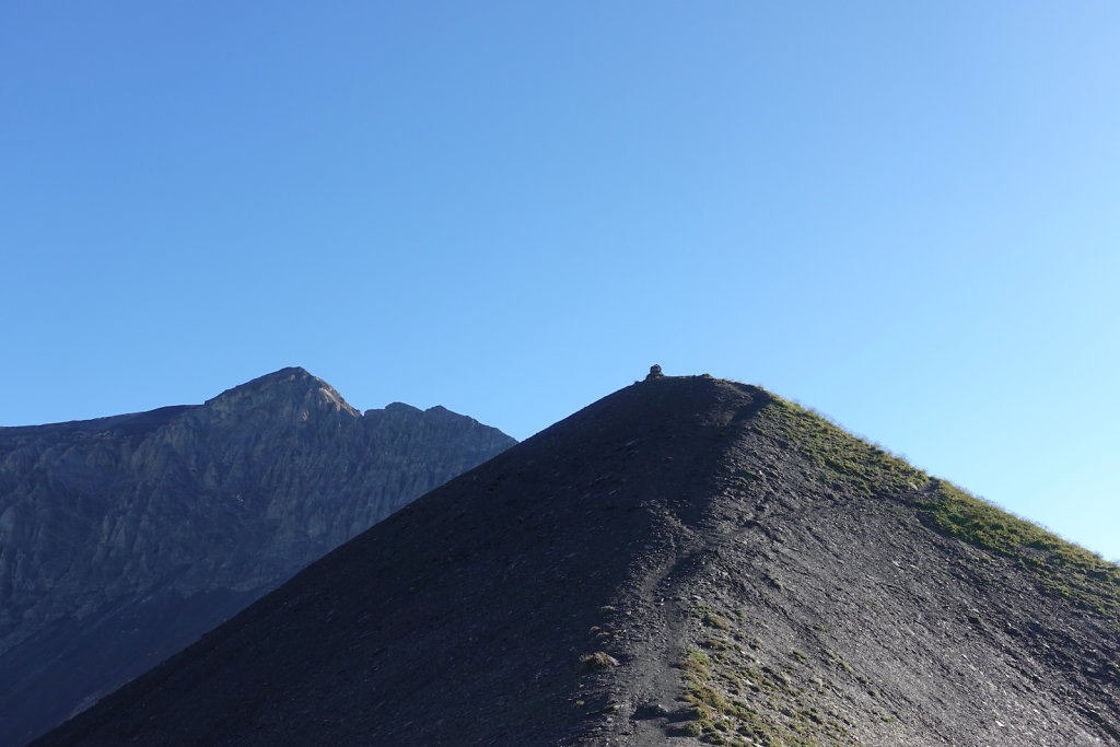
M 0 4 L 0 424 L 661 363 L 1120 559 L 1120 4 Z

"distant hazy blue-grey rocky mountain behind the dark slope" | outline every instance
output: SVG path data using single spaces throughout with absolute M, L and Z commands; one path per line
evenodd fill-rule
M 0 429 L 0 745 L 514 442 L 438 407 L 360 413 L 302 368 L 202 405 Z

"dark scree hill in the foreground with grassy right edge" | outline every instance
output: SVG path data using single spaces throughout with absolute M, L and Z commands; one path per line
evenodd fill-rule
M 39 744 L 1118 744 L 1118 609 L 1096 555 L 760 389 L 654 376 Z

